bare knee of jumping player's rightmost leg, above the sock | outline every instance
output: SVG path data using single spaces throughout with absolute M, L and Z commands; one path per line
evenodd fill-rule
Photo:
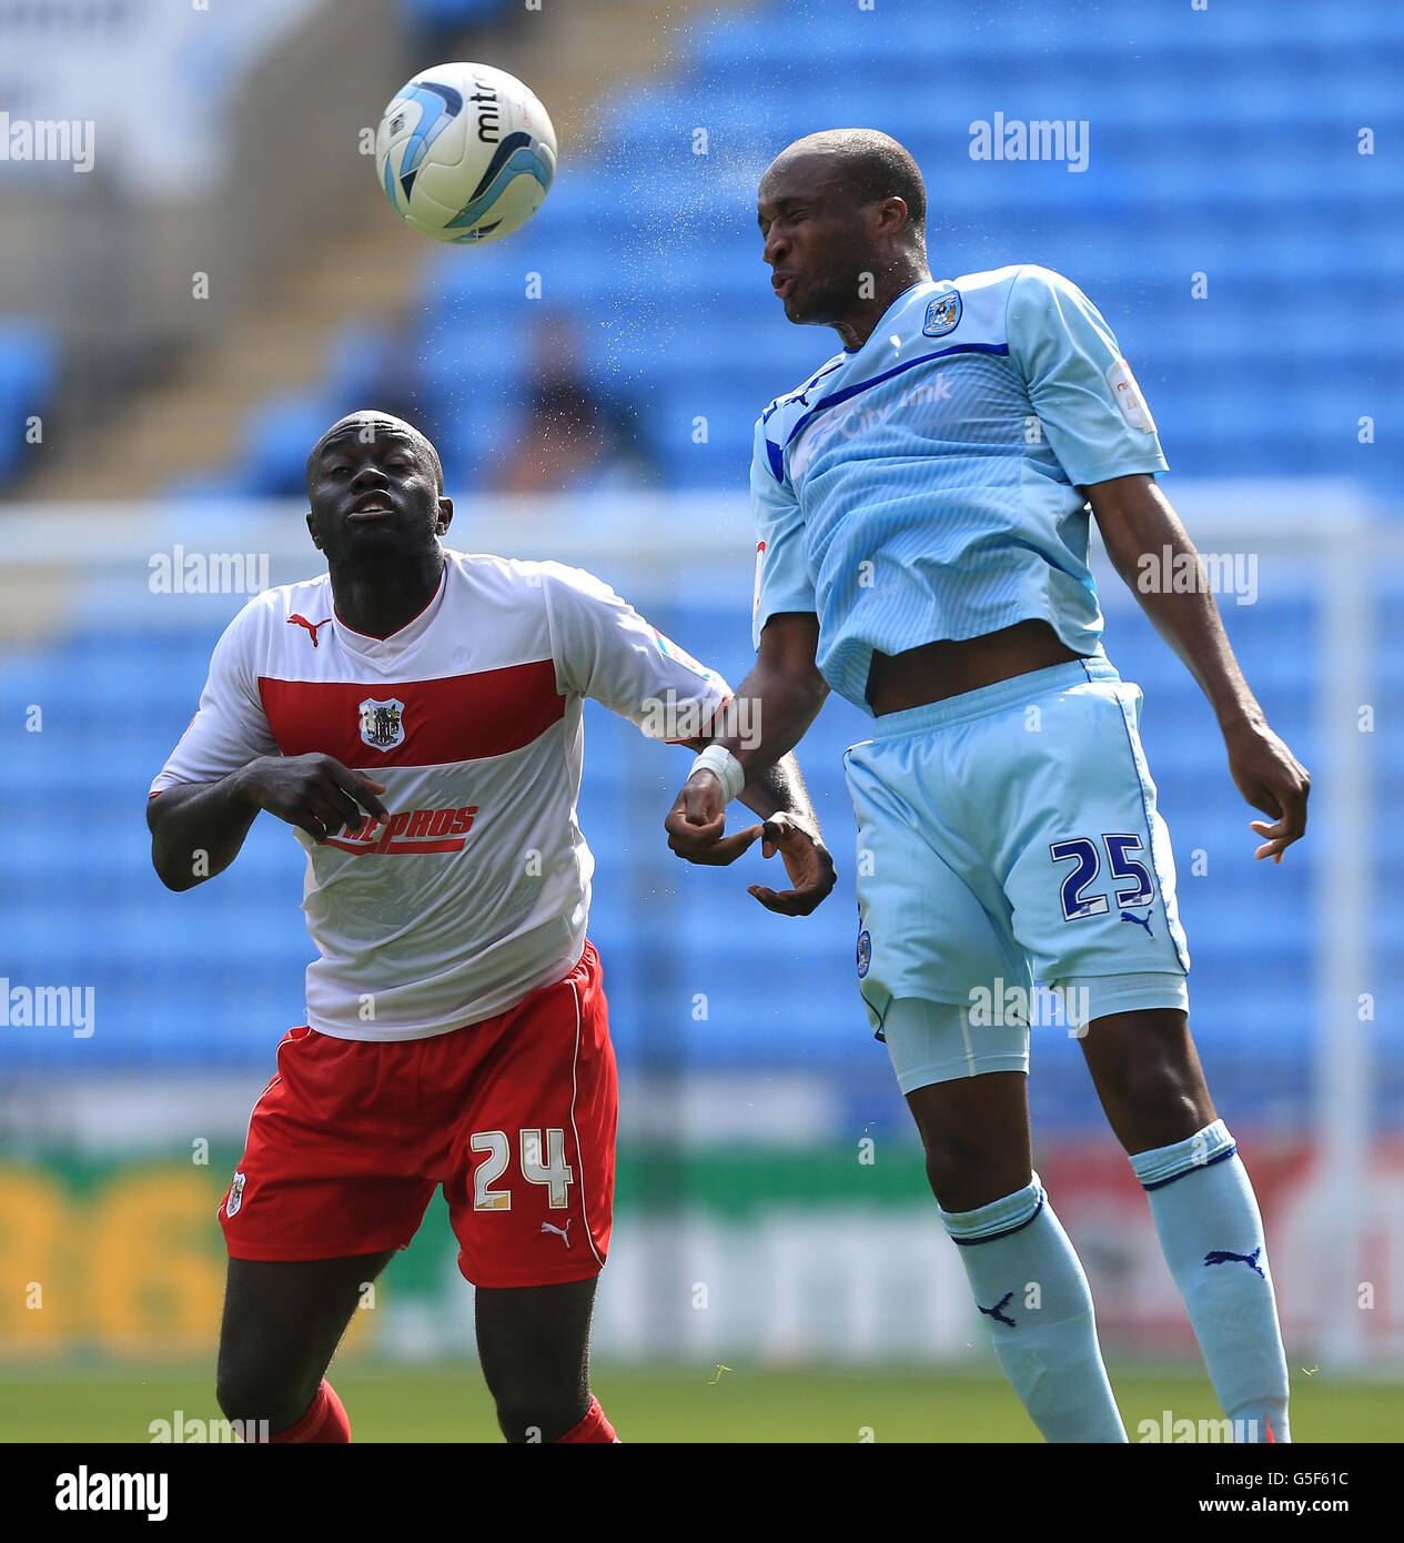
M 1132 1156 L 1188 1140 L 1214 1122 L 1183 1012 L 1131 1009 L 1094 1018 L 1082 1049 L 1108 1123 Z

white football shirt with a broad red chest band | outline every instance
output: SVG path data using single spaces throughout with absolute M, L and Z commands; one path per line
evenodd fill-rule
M 444 557 L 434 599 L 386 639 L 336 616 L 326 574 L 250 600 L 151 784 L 309 751 L 386 784 L 387 826 L 324 842 L 289 827 L 319 954 L 307 1021 L 338 1038 L 443 1034 L 568 975 L 594 872 L 575 819 L 583 699 L 693 739 L 731 694 L 583 569 Z

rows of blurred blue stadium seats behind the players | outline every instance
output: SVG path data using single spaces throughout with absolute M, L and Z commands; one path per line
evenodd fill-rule
M 427 11 L 424 0 L 417 9 Z M 1404 133 L 1401 43 L 1404 8 L 1318 0 L 1205 12 L 896 0 L 872 12 L 852 0 L 722 9 L 682 35 L 673 76 L 614 96 L 605 150 L 566 159 L 521 233 L 480 250 L 426 244 L 407 386 L 437 434 L 449 492 L 480 477 L 514 432 L 542 306 L 572 310 L 589 380 L 640 414 L 668 486 L 742 486 L 758 410 L 836 349 L 829 332 L 788 327 L 770 296 L 756 177 L 788 139 L 867 122 L 903 137 L 924 168 L 940 272 L 1037 261 L 1088 290 L 1137 366 L 1176 474 L 1339 475 L 1398 500 L 1399 441 L 1384 426 L 1404 417 L 1404 372 L 1385 339 L 1404 324 L 1404 162 L 1385 147 Z M 1088 119 L 1088 171 L 974 162 L 969 125 L 994 111 Z M 699 125 L 707 154 L 693 153 Z M 1362 125 L 1379 154 L 1358 154 Z M 1191 298 L 1196 273 L 1207 275 L 1205 299 Z M 528 275 L 540 276 L 542 301 L 528 299 Z M 299 485 L 321 429 L 375 389 L 384 347 L 359 329 L 338 336 L 322 384 L 261 404 L 239 464 L 187 491 Z M 1358 441 L 1362 415 L 1381 426 L 1373 446 Z M 708 420 L 705 443 L 693 438 L 697 417 Z M 1330 772 L 1311 708 L 1324 685 L 1321 623 L 1308 593 L 1282 576 L 1256 605 L 1230 606 L 1227 622 L 1274 725 L 1321 778 Z M 677 603 L 653 619 L 725 670 L 748 653 L 741 608 Z M 1401 623 L 1404 586 L 1382 582 L 1381 637 Z M 45 731 L 20 736 L 6 767 L 15 798 L 66 813 L 14 822 L 0 850 L 0 880 L 26 900 L 6 917 L 6 967 L 15 980 L 59 981 L 97 963 L 99 1028 L 82 1046 L 85 1066 L 261 1068 L 301 1014 L 310 946 L 295 913 L 301 858 L 285 832 L 261 821 L 239 863 L 188 895 L 165 893 L 147 864 L 145 787 L 188 719 L 211 642 L 205 631 L 94 630 L 0 660 L 6 721 L 26 702 L 46 704 Z M 1180 859 L 1194 1023 L 1216 1096 L 1230 1119 L 1302 1128 L 1322 852 L 1307 842 L 1282 867 L 1254 864 L 1251 813 L 1193 682 L 1136 616 L 1114 617 L 1108 647 L 1146 693 L 1145 741 Z M 1404 653 L 1381 653 L 1375 687 L 1376 764 L 1398 767 Z M 873 1079 L 889 1088 L 853 983 L 853 832 L 839 755 L 864 725 L 830 702 L 802 748 L 841 889 L 791 921 L 745 895 L 758 856 L 727 872 L 671 858 L 659 824 L 683 762 L 589 711 L 582 824 L 597 855 L 592 932 L 626 1068 L 824 1065 L 842 1069 L 855 1100 Z M 105 773 L 97 792 L 94 764 Z M 1399 822 L 1382 821 L 1376 863 L 1381 892 L 1404 880 Z M 1384 909 L 1373 944 L 1375 1028 L 1390 1051 L 1379 1111 L 1398 1122 L 1404 943 Z M 1077 1046 L 1045 1031 L 1035 1058 L 1040 1122 L 1091 1119 Z M 5 1060 L 62 1066 L 77 1051 L 12 1035 Z

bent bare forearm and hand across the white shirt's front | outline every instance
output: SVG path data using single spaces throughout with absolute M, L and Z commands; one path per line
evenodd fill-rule
M 148 799 L 151 863 L 167 889 L 193 889 L 235 861 L 259 810 L 326 841 L 355 830 L 366 815 L 389 819 L 376 798 L 384 790 L 335 756 L 259 756 L 218 782 L 170 787 Z

